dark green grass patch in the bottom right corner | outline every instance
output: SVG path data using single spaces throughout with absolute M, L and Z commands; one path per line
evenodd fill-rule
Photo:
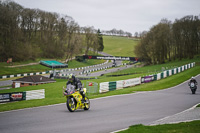
M 198 133 L 200 121 L 182 122 L 178 124 L 164 124 L 156 126 L 134 125 L 119 133 Z

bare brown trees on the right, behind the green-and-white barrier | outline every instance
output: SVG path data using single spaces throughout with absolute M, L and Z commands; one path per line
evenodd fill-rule
M 200 53 L 200 16 L 185 16 L 173 23 L 162 19 L 142 35 L 134 52 L 147 64 L 192 59 Z

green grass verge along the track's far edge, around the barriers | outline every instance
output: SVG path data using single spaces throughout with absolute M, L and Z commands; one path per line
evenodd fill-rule
M 152 66 L 152 67 L 155 67 L 155 66 Z M 105 96 L 111 96 L 111 95 L 129 94 L 135 91 L 154 91 L 154 90 L 165 89 L 165 88 L 180 84 L 184 82 L 185 80 L 190 79 L 191 76 L 196 76 L 199 73 L 200 73 L 200 65 L 196 65 L 194 68 L 185 70 L 184 72 L 167 77 L 159 81 L 154 81 L 147 84 L 142 84 L 139 86 L 129 87 L 129 88 L 121 89 L 121 90 L 110 91 L 104 94 L 89 95 L 89 98 L 92 99 L 92 98 L 105 97 Z M 82 82 L 84 84 L 86 84 L 86 81 L 94 81 L 94 82 L 100 83 L 100 82 L 107 82 L 107 81 L 130 79 L 130 78 L 133 78 L 134 76 L 129 75 L 129 76 L 120 76 L 120 77 L 101 77 L 99 79 L 83 80 Z M 60 79 L 60 80 L 57 80 L 56 83 L 51 83 L 51 84 L 21 87 L 17 89 L 12 88 L 9 90 L 0 90 L 0 93 L 8 93 L 8 92 L 21 92 L 21 91 L 28 91 L 28 90 L 45 89 L 45 99 L 0 104 L 0 111 L 64 103 L 66 99 L 65 97 L 62 96 L 62 87 L 66 85 L 66 82 L 67 82 L 66 80 Z

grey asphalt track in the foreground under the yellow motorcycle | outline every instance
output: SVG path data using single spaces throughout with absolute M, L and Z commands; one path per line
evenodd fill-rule
M 200 75 L 196 79 L 200 83 Z M 65 104 L 2 112 L 0 132 L 109 133 L 130 125 L 149 124 L 199 103 L 199 86 L 195 95 L 186 81 L 165 90 L 92 99 L 89 111 L 74 113 Z

